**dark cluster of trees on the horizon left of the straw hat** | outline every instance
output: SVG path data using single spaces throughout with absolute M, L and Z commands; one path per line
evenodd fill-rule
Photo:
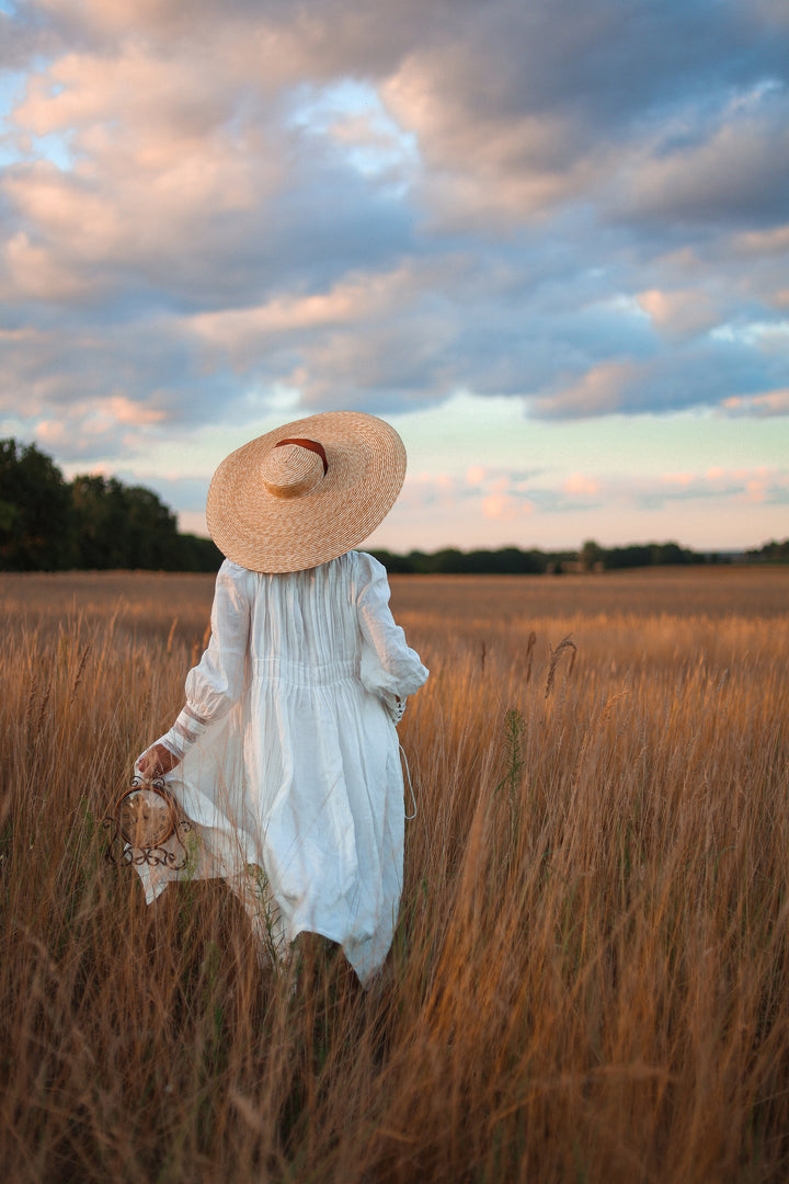
M 34 444 L 0 440 L 0 570 L 216 571 L 211 539 L 180 534 L 153 490 L 117 477 L 66 481 Z

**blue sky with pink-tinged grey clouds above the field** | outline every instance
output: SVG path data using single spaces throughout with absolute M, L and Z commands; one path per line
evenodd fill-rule
M 789 536 L 787 0 L 0 0 L 0 436 L 155 489 L 317 411 L 370 545 Z

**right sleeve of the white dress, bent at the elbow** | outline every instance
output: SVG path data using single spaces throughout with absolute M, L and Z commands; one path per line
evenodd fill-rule
M 357 556 L 356 605 L 363 646 L 360 676 L 366 689 L 379 695 L 388 708 L 412 695 L 429 671 L 406 643 L 389 609 L 389 581 L 386 567 L 360 552 Z

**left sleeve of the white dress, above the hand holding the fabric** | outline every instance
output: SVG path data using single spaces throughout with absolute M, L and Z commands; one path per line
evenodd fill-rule
M 221 720 L 244 690 L 250 637 L 248 572 L 225 560 L 216 575 L 211 610 L 211 641 L 186 677 L 186 706 L 159 741 L 183 757 L 212 723 Z

